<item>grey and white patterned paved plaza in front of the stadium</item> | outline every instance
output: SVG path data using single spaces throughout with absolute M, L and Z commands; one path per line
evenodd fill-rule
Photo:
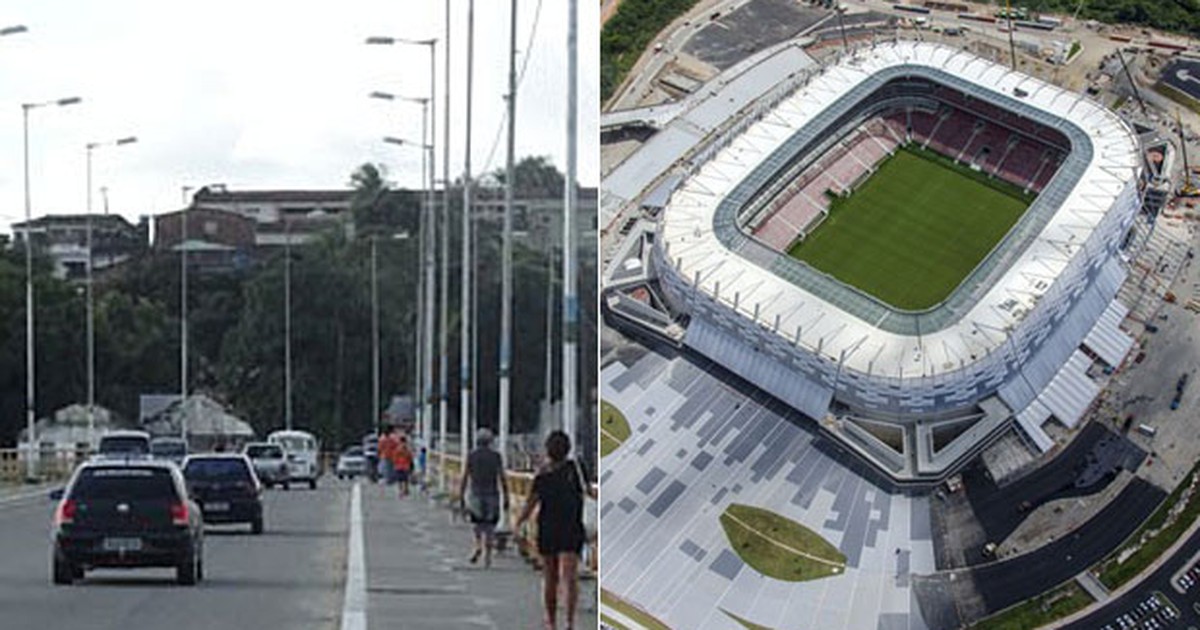
M 811 421 L 692 362 L 647 353 L 601 373 L 637 428 L 604 460 L 605 588 L 676 629 L 919 630 L 911 576 L 934 571 L 929 505 L 892 494 L 822 444 Z M 782 582 L 744 565 L 719 516 L 763 506 L 846 554 L 836 577 Z M 616 505 L 619 509 L 612 509 Z

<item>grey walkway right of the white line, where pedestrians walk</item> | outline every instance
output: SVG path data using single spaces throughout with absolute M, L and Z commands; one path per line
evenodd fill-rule
M 470 526 L 440 504 L 364 484 L 362 524 L 368 629 L 542 628 L 540 574 L 511 548 L 491 569 L 468 564 Z M 596 626 L 596 599 L 581 581 L 575 628 Z

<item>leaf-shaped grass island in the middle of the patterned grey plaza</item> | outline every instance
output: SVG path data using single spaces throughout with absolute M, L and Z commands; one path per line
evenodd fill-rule
M 721 527 L 738 557 L 768 577 L 802 582 L 846 570 L 846 557 L 838 547 L 770 510 L 732 504 L 721 515 Z

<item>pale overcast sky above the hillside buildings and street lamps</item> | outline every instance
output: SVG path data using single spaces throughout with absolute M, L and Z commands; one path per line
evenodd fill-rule
M 467 0 L 451 2 L 451 176 L 464 155 Z M 548 155 L 565 169 L 566 2 L 521 0 L 517 156 Z M 0 26 L 0 224 L 24 218 L 22 103 L 79 96 L 30 115 L 32 214 L 85 209 L 85 144 L 137 136 L 94 154 L 94 209 L 175 210 L 182 186 L 340 188 L 362 162 L 382 162 L 401 186 L 420 182 L 420 152 L 383 144 L 418 139 L 420 106 L 367 98 L 373 90 L 428 92 L 428 49 L 366 46 L 370 35 L 438 37 L 443 96 L 444 0 L 6 0 Z M 475 6 L 473 170 L 504 163 L 509 2 Z M 530 34 L 533 44 L 526 50 Z M 578 179 L 599 181 L 598 6 L 580 2 Z M 443 104 L 437 106 L 442 178 Z M 7 113 L 6 113 L 7 112 Z

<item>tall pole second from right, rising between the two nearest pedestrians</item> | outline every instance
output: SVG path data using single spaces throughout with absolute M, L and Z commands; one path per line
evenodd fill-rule
M 504 235 L 502 244 L 503 278 L 500 281 L 500 457 L 509 456 L 510 364 L 512 355 L 512 190 L 516 187 L 514 162 L 517 126 L 517 0 L 512 0 L 509 46 L 509 148 L 504 175 Z

